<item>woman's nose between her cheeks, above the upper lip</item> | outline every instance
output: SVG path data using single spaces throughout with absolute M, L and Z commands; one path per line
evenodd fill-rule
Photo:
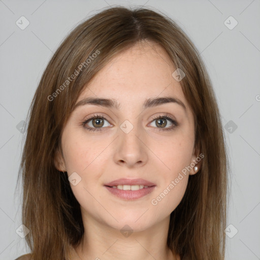
M 116 140 L 114 161 L 117 165 L 128 168 L 144 166 L 148 160 L 145 140 L 138 133 L 138 127 L 134 127 L 129 133 L 118 130 L 119 136 Z

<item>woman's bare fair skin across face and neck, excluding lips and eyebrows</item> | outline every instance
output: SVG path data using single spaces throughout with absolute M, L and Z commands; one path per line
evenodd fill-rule
M 89 83 L 78 98 L 115 99 L 120 109 L 87 104 L 73 111 L 63 129 L 63 156 L 55 158 L 56 168 L 76 172 L 81 181 L 72 191 L 81 205 L 84 237 L 75 248 L 81 259 L 180 259 L 167 247 L 170 214 L 178 206 L 187 187 L 188 175 L 158 202 L 151 200 L 163 192 L 182 169 L 198 156 L 194 149 L 194 119 L 175 71 L 163 48 L 142 42 L 113 58 Z M 143 110 L 149 98 L 172 96 L 181 100 Z M 179 125 L 169 131 L 156 126 L 154 116 L 170 115 Z M 89 131 L 101 114 L 102 131 Z M 134 128 L 125 134 L 120 125 L 128 120 Z M 167 120 L 165 128 L 173 124 Z M 95 124 L 96 126 L 96 124 Z M 98 128 L 98 127 L 96 127 Z M 98 128 L 100 129 L 100 128 Z M 197 164 L 199 167 L 200 164 Z M 146 196 L 132 201 L 110 193 L 104 184 L 119 178 L 143 178 L 156 184 Z M 134 232 L 124 237 L 127 224 Z M 99 258 L 96 258 L 99 257 Z

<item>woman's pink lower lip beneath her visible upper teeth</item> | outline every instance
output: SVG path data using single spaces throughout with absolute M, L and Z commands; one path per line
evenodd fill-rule
M 155 188 L 155 186 L 150 186 L 139 190 L 123 190 L 123 189 L 112 188 L 109 186 L 105 186 L 105 187 L 118 198 L 125 199 L 125 200 L 136 200 L 142 198 L 145 195 L 151 193 Z

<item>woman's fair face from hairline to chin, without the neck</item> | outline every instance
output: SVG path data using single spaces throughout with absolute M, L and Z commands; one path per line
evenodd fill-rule
M 55 164 L 73 180 L 83 222 L 143 231 L 169 218 L 180 203 L 194 174 L 185 167 L 194 166 L 198 154 L 193 115 L 174 71 L 164 49 L 136 44 L 112 59 L 79 96 L 62 132 L 63 157 Z M 161 99 L 166 97 L 172 100 Z M 127 180 L 116 181 L 122 178 Z

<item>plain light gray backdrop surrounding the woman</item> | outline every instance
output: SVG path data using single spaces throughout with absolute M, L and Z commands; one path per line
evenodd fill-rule
M 259 2 L 0 0 L 0 259 L 28 252 L 25 239 L 16 233 L 22 223 L 21 188 L 15 193 L 15 186 L 21 126 L 42 73 L 69 31 L 108 5 L 158 9 L 177 21 L 201 52 L 226 128 L 231 161 L 228 225 L 232 226 L 227 234 L 232 238 L 227 236 L 226 259 L 260 259 Z M 23 30 L 16 25 L 21 16 L 29 21 Z M 224 23 L 230 16 L 238 22 L 233 29 L 226 25 L 233 27 L 235 20 Z

